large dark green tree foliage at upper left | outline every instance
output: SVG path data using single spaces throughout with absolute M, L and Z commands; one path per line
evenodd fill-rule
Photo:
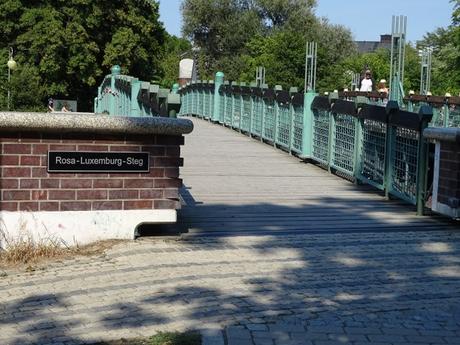
M 37 97 L 19 97 L 20 90 L 12 89 L 13 108 L 66 97 L 89 110 L 96 86 L 114 64 L 143 80 L 161 77 L 165 32 L 158 18 L 158 2 L 153 0 L 3 0 L 0 56 L 13 47 L 18 62 L 10 87 L 26 71 L 31 80 L 39 80 L 35 85 L 25 78 L 19 85 Z M 2 108 L 4 98 L 2 92 Z

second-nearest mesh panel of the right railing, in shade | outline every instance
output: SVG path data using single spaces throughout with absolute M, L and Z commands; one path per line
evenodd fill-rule
M 384 188 L 386 133 L 386 123 L 364 120 L 360 175 L 381 189 Z

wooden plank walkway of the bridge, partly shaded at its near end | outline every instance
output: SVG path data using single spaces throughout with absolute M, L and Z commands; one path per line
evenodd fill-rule
M 193 118 L 181 168 L 188 236 L 453 230 L 270 145 Z

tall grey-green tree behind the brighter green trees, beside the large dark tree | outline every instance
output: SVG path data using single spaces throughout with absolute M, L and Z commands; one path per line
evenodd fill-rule
M 268 49 L 282 36 L 289 44 L 294 44 L 291 36 L 305 36 L 315 22 L 315 4 L 316 0 L 185 0 L 183 34 L 199 49 L 200 76 L 207 79 L 221 69 L 230 79 L 243 77 L 247 63 L 254 63 L 254 45 Z M 275 40 L 268 39 L 271 35 Z

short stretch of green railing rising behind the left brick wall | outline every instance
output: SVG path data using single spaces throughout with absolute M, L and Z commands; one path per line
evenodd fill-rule
M 98 88 L 94 112 L 116 116 L 176 117 L 180 109 L 178 85 L 162 89 L 158 85 L 121 75 L 120 67 L 113 66 Z

